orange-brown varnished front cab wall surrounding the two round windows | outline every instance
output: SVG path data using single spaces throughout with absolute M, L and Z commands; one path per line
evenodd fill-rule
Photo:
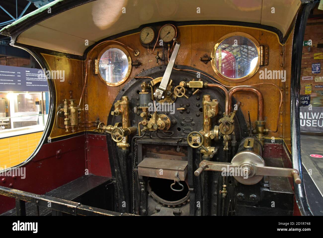
M 197 70 L 204 71 L 213 75 L 218 81 L 222 82 L 228 86 L 236 85 L 252 85 L 256 83 L 274 83 L 279 88 L 284 88 L 285 85 L 289 85 L 290 81 L 287 79 L 285 83 L 280 80 L 261 80 L 259 79 L 259 70 L 284 70 L 284 60 L 283 60 L 283 46 L 279 43 L 278 37 L 276 34 L 250 27 L 235 27 L 235 26 L 222 26 L 222 25 L 194 25 L 194 26 L 181 26 L 179 30 L 179 40 L 181 41 L 181 47 L 176 59 L 176 64 L 179 65 L 188 65 L 196 68 Z M 257 73 L 250 79 L 240 83 L 230 83 L 223 81 L 216 77 L 211 63 L 208 62 L 206 65 L 200 61 L 200 57 L 204 54 L 210 56 L 211 51 L 214 47 L 214 44 L 223 37 L 225 34 L 231 32 L 245 32 L 259 42 L 260 45 L 269 46 L 269 65 L 261 66 Z M 117 39 L 118 41 L 129 45 L 133 49 L 139 49 L 140 55 L 135 57 L 132 52 L 130 56 L 132 60 L 139 60 L 142 65 L 140 67 L 132 68 L 130 77 L 127 81 L 132 79 L 135 75 L 140 73 L 143 70 L 150 69 L 152 67 L 158 66 L 156 63 L 156 49 L 153 54 L 149 54 L 147 49 L 141 46 L 139 42 L 139 33 L 132 35 L 124 36 Z M 99 47 L 95 48 L 89 55 L 89 59 L 96 59 L 99 52 L 105 48 L 107 44 L 102 44 Z M 290 60 L 286 62 L 290 64 Z M 88 87 L 87 87 L 87 103 L 89 104 L 89 121 L 96 120 L 100 118 L 101 121 L 106 122 L 107 116 L 112 106 L 112 103 L 118 94 L 118 92 L 123 88 L 127 81 L 117 87 L 109 87 L 104 82 L 99 79 L 98 75 L 93 75 L 92 68 L 89 70 L 88 77 Z M 290 71 L 290 70 L 289 70 Z M 290 77 L 290 73 L 287 74 Z M 288 82 L 288 84 L 287 84 Z M 266 119 L 266 128 L 269 130 L 276 130 L 277 123 L 277 114 L 279 113 L 279 97 L 280 93 L 278 89 L 272 85 L 260 85 L 256 86 L 264 95 L 264 116 Z M 248 118 L 248 111 L 250 111 L 251 120 L 254 122 L 257 118 L 257 98 L 255 95 L 247 92 L 236 93 L 235 98 L 238 101 L 242 102 L 241 110 L 245 115 L 245 118 Z M 284 101 L 286 106 L 287 101 Z M 281 111 L 283 111 L 283 107 Z M 281 114 L 279 119 L 279 126 L 277 133 L 269 133 L 267 137 L 275 136 L 276 138 L 283 138 L 283 114 Z M 288 116 L 288 115 L 287 115 Z M 288 122 L 288 125 L 287 125 Z M 253 123 L 254 124 L 254 123 Z M 284 121 L 285 126 L 288 127 L 289 121 L 286 119 Z

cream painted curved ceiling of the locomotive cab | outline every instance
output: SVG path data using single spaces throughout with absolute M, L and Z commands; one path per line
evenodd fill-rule
M 51 3 L 55 5 L 63 0 Z M 54 15 L 22 32 L 16 42 L 83 55 L 89 45 L 109 36 L 159 21 L 227 20 L 278 28 L 285 36 L 300 0 L 97 0 Z M 47 11 L 48 5 L 36 11 Z M 125 7 L 125 13 L 122 9 Z M 197 8 L 200 13 L 197 13 Z M 272 13 L 272 8 L 275 13 Z M 42 10 L 43 9 L 43 10 Z M 28 21 L 32 12 L 21 21 Z M 19 20 L 18 20 L 19 21 Z M 18 25 L 14 22 L 5 29 Z M 4 29 L 2 30 L 4 31 Z

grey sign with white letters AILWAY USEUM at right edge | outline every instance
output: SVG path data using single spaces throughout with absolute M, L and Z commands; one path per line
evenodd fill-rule
M 300 107 L 299 117 L 301 132 L 323 132 L 323 107 Z

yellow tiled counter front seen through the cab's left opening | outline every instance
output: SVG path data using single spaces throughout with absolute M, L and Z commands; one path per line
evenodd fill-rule
M 26 160 L 38 145 L 43 132 L 0 139 L 0 168 L 15 166 Z

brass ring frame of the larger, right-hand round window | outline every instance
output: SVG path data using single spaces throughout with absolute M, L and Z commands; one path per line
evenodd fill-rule
M 229 77 L 226 77 L 224 76 L 216 67 L 215 63 L 216 63 L 216 59 L 215 59 L 215 53 L 216 53 L 216 49 L 219 47 L 219 45 L 227 38 L 229 37 L 233 37 L 233 36 L 242 36 L 242 37 L 245 37 L 245 38 L 248 38 L 249 40 L 251 40 L 255 46 L 256 46 L 256 49 L 257 49 L 257 52 L 258 52 L 258 61 L 257 61 L 257 64 L 256 64 L 256 67 L 250 72 L 248 73 L 247 75 L 245 75 L 244 77 L 241 77 L 241 78 L 237 78 L 237 79 L 232 79 L 232 78 L 229 78 Z M 212 66 L 212 69 L 214 70 L 215 74 L 223 79 L 224 81 L 227 81 L 227 82 L 243 82 L 243 81 L 246 81 L 247 79 L 250 79 L 252 76 L 255 75 L 255 73 L 259 70 L 259 67 L 260 67 L 260 45 L 258 43 L 258 41 L 250 36 L 249 34 L 247 33 L 244 33 L 244 32 L 233 32 L 233 33 L 229 33 L 229 34 L 226 34 L 225 36 L 221 37 L 218 42 L 214 45 L 213 49 L 212 49 L 212 52 L 211 52 L 211 66 Z

